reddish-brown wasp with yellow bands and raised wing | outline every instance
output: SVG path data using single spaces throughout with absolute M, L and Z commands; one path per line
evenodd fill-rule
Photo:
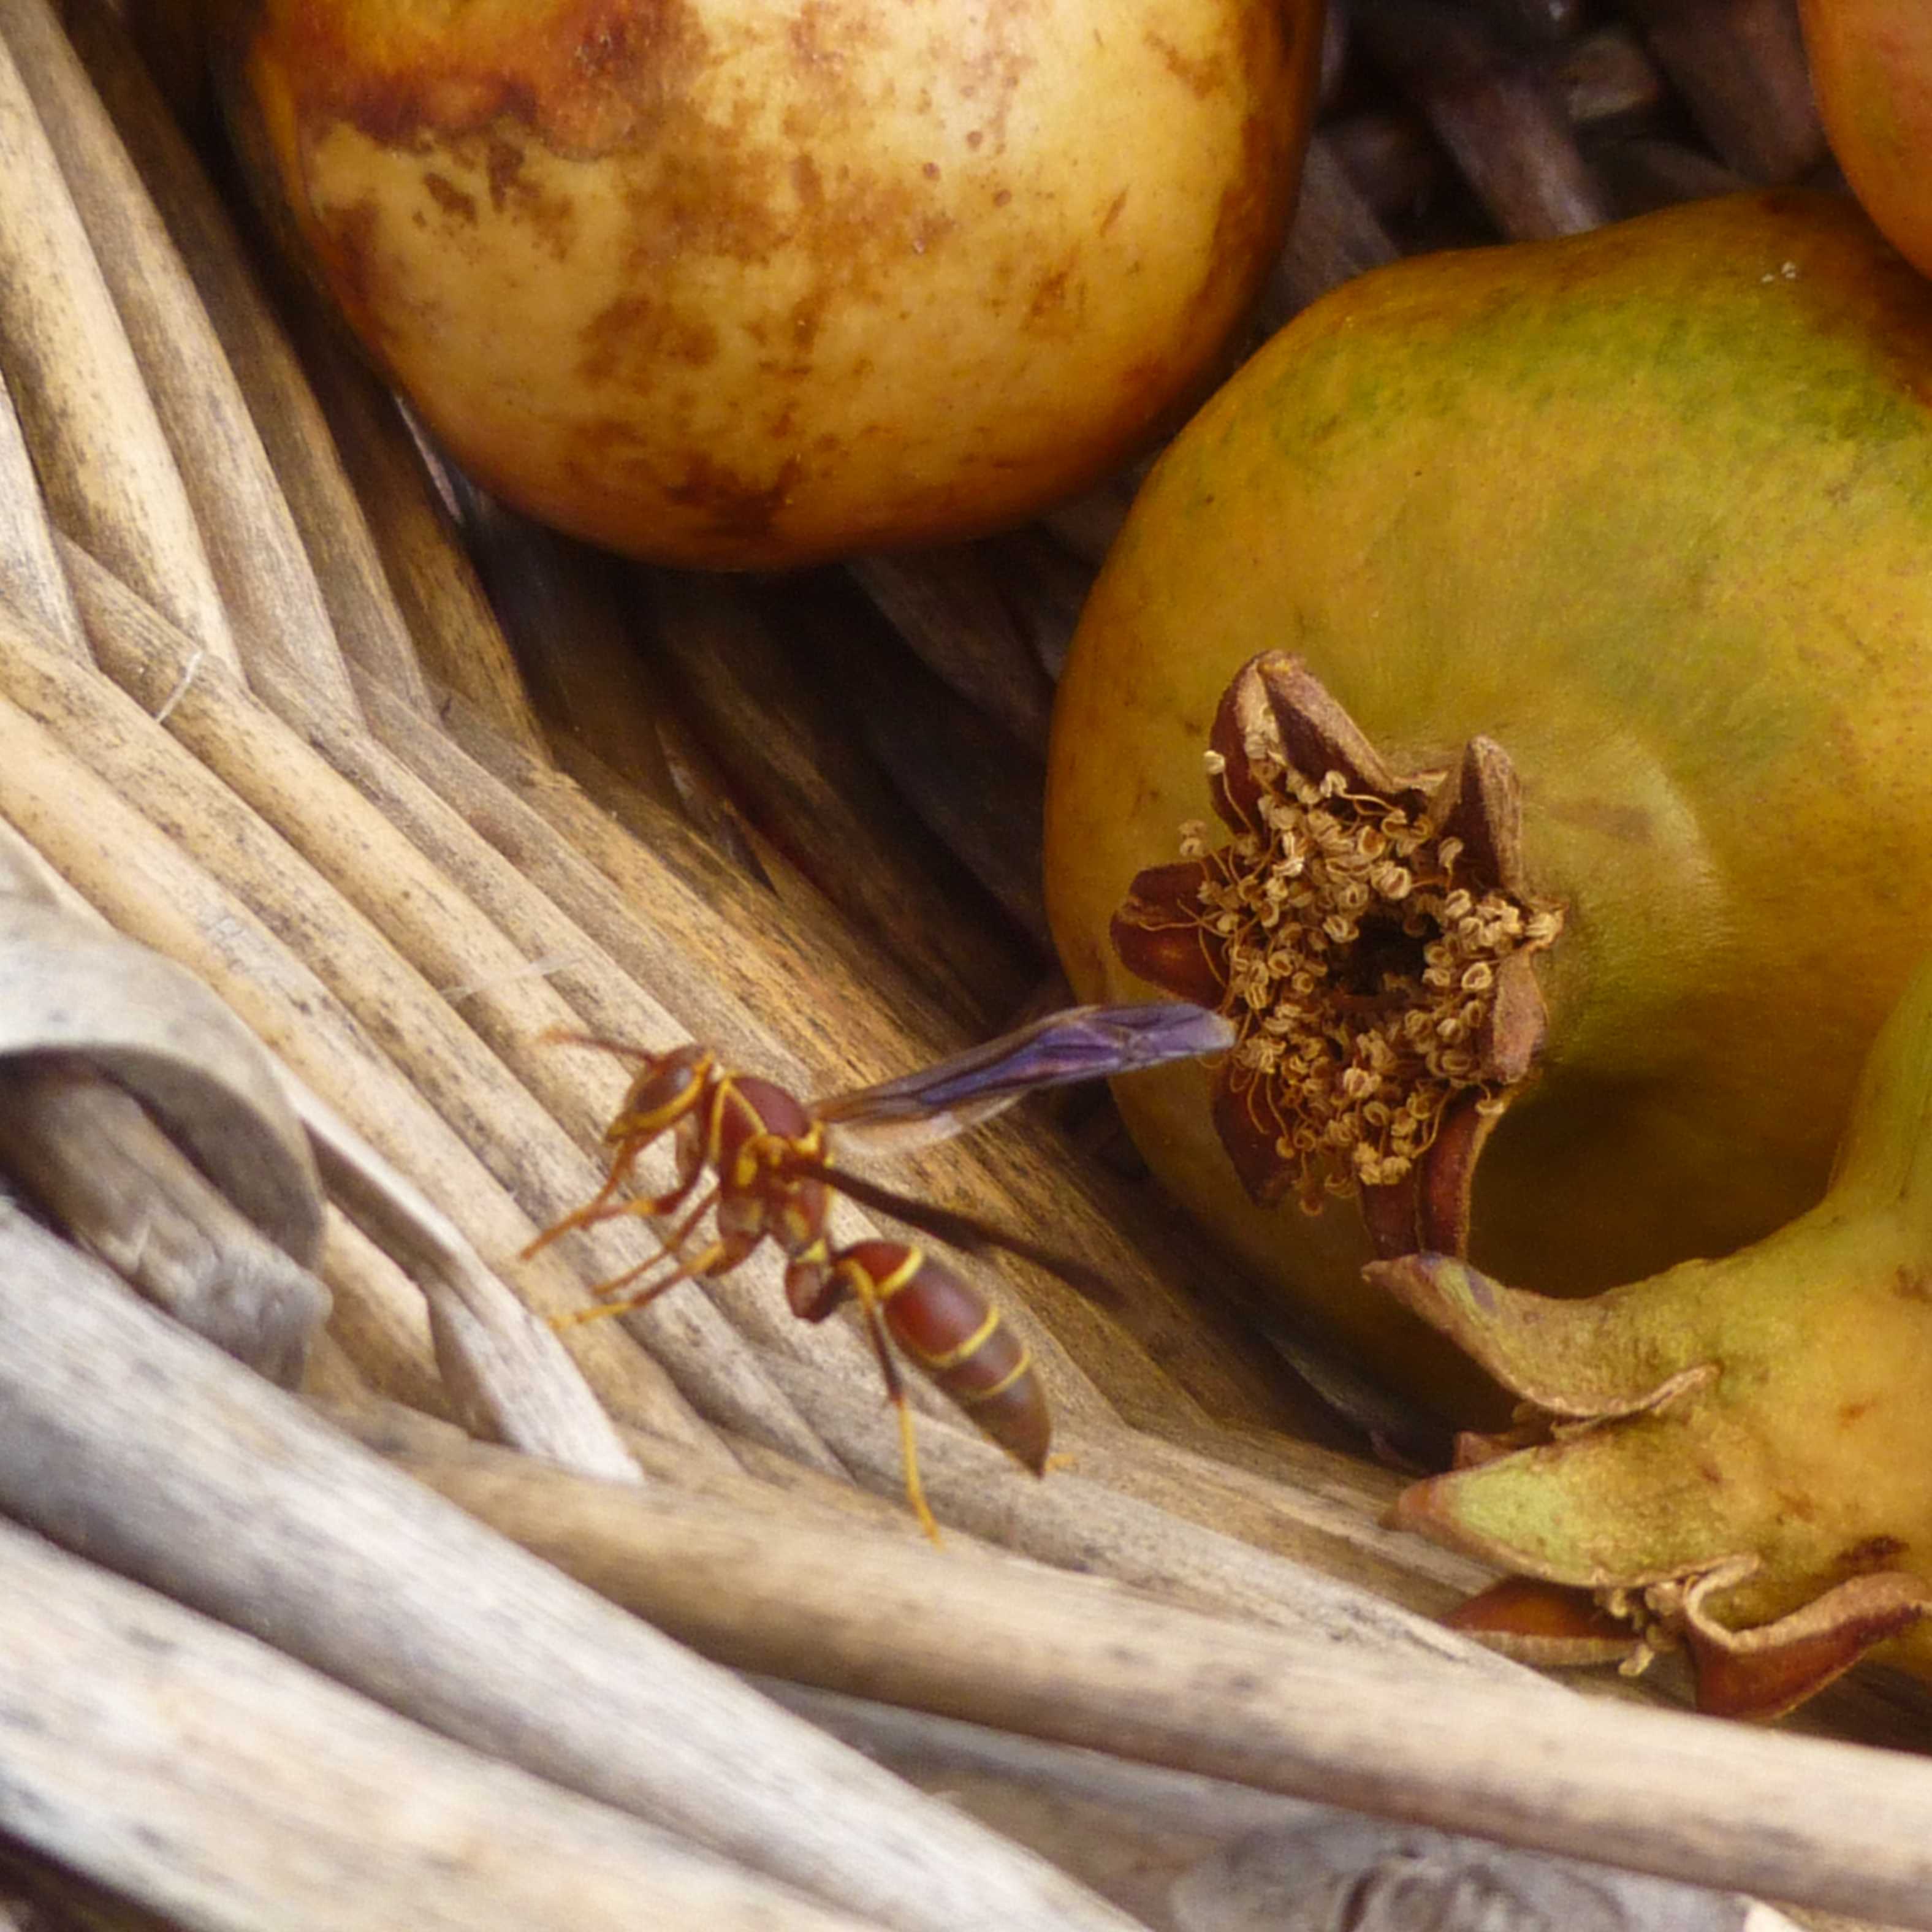
M 860 1306 L 887 1401 L 898 1416 L 906 1499 L 925 1534 L 937 1540 L 920 1486 L 898 1358 L 912 1362 L 1036 1476 L 1045 1472 L 1053 1437 L 1047 1399 L 1026 1343 L 1001 1320 L 999 1308 L 937 1254 L 920 1242 L 885 1238 L 835 1246 L 827 1225 L 833 1194 L 877 1208 L 968 1254 L 1005 1250 L 1101 1300 L 1115 1296 L 1107 1281 L 1078 1260 L 835 1167 L 827 1157 L 831 1136 L 898 1148 L 943 1140 L 1024 1094 L 1221 1053 L 1235 1036 L 1219 1014 L 1184 1001 L 1072 1007 L 933 1066 L 815 1103 L 773 1080 L 726 1068 L 707 1045 L 653 1053 L 591 1034 L 553 1037 L 614 1053 L 632 1063 L 636 1074 L 605 1128 L 611 1165 L 603 1186 L 547 1227 L 524 1256 L 570 1229 L 618 1215 L 678 1217 L 661 1231 L 661 1254 L 599 1283 L 597 1300 L 556 1318 L 558 1325 L 641 1308 L 680 1281 L 726 1275 L 759 1242 L 775 1242 L 786 1260 L 786 1302 L 802 1321 L 823 1321 L 844 1302 Z M 674 1136 L 672 1186 L 663 1194 L 626 1196 L 638 1159 L 665 1134 Z M 711 1215 L 711 1233 L 699 1242 L 705 1215 Z

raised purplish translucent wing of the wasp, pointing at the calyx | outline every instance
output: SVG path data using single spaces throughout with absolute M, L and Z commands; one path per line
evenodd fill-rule
M 978 1126 L 1037 1088 L 1200 1059 L 1233 1043 L 1235 1028 L 1221 1014 L 1179 999 L 1068 1007 L 918 1072 L 835 1094 L 813 1113 L 862 1130 L 867 1142 L 922 1146 Z

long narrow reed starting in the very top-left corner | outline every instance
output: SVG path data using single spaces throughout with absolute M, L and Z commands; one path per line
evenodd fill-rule
M 174 242 L 48 0 L 0 0 L 33 93 L 201 527 L 236 643 L 299 668 L 354 713 L 328 609 L 234 371 Z

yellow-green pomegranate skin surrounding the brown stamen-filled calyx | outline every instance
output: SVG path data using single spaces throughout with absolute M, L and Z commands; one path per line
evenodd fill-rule
M 1577 1294 L 1768 1235 L 1822 1192 L 1932 943 L 1928 554 L 1932 284 L 1849 203 L 1698 203 L 1349 284 L 1163 454 L 1082 618 L 1047 798 L 1078 997 L 1146 997 L 1109 925 L 1184 821 L 1225 844 L 1217 705 L 1256 653 L 1293 653 L 1401 773 L 1501 746 L 1522 904 L 1561 916 L 1526 956 L 1540 1061 L 1515 1097 L 1474 1090 L 1509 1099 L 1474 1264 Z M 1420 966 L 1420 939 L 1379 933 L 1387 956 L 1337 976 L 1356 1009 L 1403 947 Z M 1250 1200 L 1200 1070 L 1121 1101 L 1283 1296 L 1470 1401 L 1362 1285 L 1350 1204 Z

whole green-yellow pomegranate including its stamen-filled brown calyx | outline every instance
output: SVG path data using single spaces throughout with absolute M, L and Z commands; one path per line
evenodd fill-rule
M 1082 999 L 1240 1030 L 1122 1086 L 1157 1175 L 1451 1416 L 1374 1256 L 1577 1296 L 1812 1208 L 1932 945 L 1932 284 L 1772 193 L 1312 307 L 1094 589 L 1047 889 Z

